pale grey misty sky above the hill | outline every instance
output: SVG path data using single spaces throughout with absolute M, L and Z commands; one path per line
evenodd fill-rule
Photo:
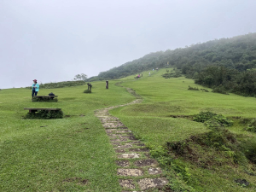
M 0 89 L 256 32 L 255 0 L 0 0 Z

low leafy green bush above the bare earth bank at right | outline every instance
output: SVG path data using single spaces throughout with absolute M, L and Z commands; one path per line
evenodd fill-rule
M 232 126 L 233 121 L 225 118 L 222 114 L 216 114 L 212 112 L 201 112 L 195 114 L 193 120 L 196 122 L 202 122 L 209 128 L 216 128 L 218 126 Z

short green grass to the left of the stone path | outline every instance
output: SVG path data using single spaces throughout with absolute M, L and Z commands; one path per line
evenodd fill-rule
M 0 191 L 120 191 L 113 147 L 94 110 L 134 98 L 109 87 L 97 82 L 91 94 L 83 93 L 85 85 L 38 93 L 54 92 L 59 102 L 32 102 L 27 89 L 0 90 Z M 23 119 L 23 108 L 62 108 L 65 117 Z

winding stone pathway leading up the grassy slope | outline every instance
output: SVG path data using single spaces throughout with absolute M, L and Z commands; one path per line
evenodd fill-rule
M 148 148 L 145 148 L 144 144 L 138 141 L 118 118 L 108 113 L 110 109 L 143 101 L 134 90 L 130 88 L 127 88 L 127 90 L 137 100 L 124 105 L 97 110 L 95 115 L 102 121 L 102 125 L 116 152 L 118 159 L 116 164 L 119 166 L 117 175 L 119 176 L 119 184 L 123 188 L 122 192 L 141 192 L 151 189 L 162 191 L 161 189 L 168 181 L 165 177 L 162 177 L 162 171 L 157 161 L 150 159 Z

